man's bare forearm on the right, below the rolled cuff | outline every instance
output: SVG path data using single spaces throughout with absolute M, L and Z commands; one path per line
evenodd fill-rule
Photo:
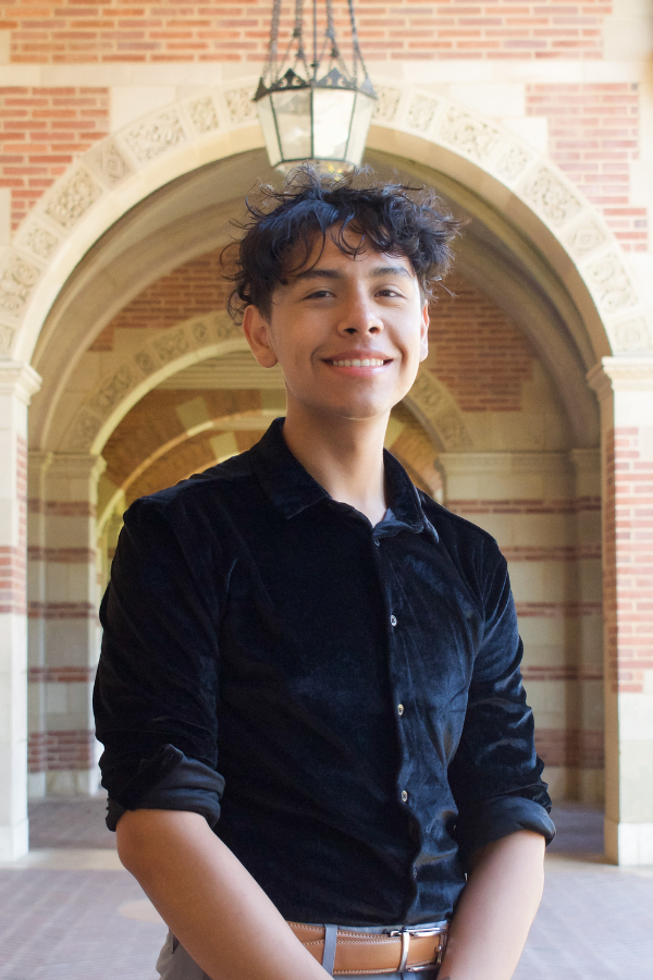
M 518 831 L 475 852 L 439 978 L 510 980 L 544 884 L 544 837 Z

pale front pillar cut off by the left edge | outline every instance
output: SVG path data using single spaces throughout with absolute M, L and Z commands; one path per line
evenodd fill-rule
M 0 860 L 27 852 L 27 406 L 40 378 L 0 360 Z

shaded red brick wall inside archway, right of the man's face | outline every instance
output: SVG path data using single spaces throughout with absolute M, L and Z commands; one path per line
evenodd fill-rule
M 492 299 L 459 275 L 431 310 L 434 373 L 464 412 L 519 412 L 534 354 Z

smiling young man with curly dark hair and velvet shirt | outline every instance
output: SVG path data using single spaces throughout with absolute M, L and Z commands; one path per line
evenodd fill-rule
M 383 450 L 456 224 L 308 168 L 272 204 L 234 299 L 287 415 L 125 515 L 108 823 L 165 980 L 509 980 L 553 824 L 506 563 Z

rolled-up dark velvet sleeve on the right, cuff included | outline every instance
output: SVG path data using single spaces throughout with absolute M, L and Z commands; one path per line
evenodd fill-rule
M 550 843 L 555 826 L 521 682 L 522 645 L 506 562 L 496 551 L 485 576 L 485 623 L 460 743 L 449 765 L 455 837 L 468 867 L 479 847 L 519 830 Z

